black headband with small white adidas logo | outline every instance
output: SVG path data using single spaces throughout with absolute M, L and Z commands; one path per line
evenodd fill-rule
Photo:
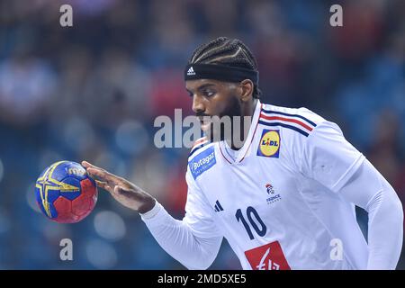
M 227 82 L 252 80 L 258 85 L 258 72 L 255 70 L 217 64 L 188 64 L 184 69 L 184 80 L 214 79 Z

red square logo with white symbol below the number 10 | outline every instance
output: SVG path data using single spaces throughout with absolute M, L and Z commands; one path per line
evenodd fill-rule
M 291 270 L 278 241 L 245 251 L 253 270 Z

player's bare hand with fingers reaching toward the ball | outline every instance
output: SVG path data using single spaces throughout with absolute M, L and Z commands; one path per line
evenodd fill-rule
M 82 166 L 85 167 L 88 175 L 95 179 L 98 187 L 111 193 L 112 197 L 122 205 L 140 213 L 150 211 L 155 205 L 156 201 L 151 195 L 130 181 L 86 161 L 82 162 Z

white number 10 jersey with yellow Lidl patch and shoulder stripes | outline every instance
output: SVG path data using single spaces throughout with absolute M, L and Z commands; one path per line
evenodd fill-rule
M 365 269 L 355 205 L 338 193 L 364 160 L 335 123 L 257 101 L 237 152 L 203 139 L 192 149 L 184 221 L 227 238 L 244 269 Z

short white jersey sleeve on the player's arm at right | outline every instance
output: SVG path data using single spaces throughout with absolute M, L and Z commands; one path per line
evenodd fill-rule
M 343 136 L 337 124 L 322 121 L 303 143 L 302 174 L 338 192 L 365 157 Z

